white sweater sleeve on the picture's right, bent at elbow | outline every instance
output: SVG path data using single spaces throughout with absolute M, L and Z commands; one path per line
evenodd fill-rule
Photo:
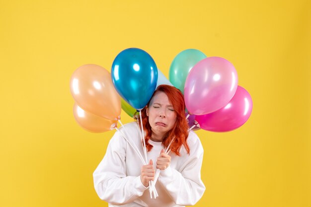
M 158 178 L 174 203 L 180 206 L 196 204 L 205 191 L 201 180 L 203 147 L 199 138 L 194 133 L 193 135 L 196 139 L 189 145 L 190 155 L 183 155 L 183 163 L 178 171 L 169 166 L 160 171 Z

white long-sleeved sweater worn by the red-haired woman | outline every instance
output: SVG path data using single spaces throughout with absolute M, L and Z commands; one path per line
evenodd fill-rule
M 131 144 L 136 145 L 144 156 L 136 122 L 126 124 L 120 131 L 126 135 Z M 162 143 L 153 142 L 148 160 L 152 159 L 156 171 L 156 159 L 163 149 Z M 140 178 L 143 165 L 139 156 L 126 140 L 116 132 L 111 138 L 106 155 L 93 173 L 94 187 L 99 198 L 108 202 L 109 207 L 180 207 L 197 203 L 202 197 L 205 186 L 201 180 L 203 147 L 198 136 L 189 132 L 187 139 L 190 155 L 182 146 L 180 155 L 170 153 L 170 166 L 160 171 L 156 182 L 158 197 L 150 198 Z

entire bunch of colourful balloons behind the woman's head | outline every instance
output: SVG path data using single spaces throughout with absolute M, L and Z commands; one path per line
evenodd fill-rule
M 133 117 L 161 84 L 175 86 L 184 94 L 189 127 L 227 132 L 243 125 L 252 111 L 251 97 L 237 81 L 228 60 L 207 57 L 195 49 L 176 55 L 167 80 L 150 54 L 129 48 L 116 56 L 111 74 L 98 65 L 82 65 L 70 84 L 76 101 L 74 116 L 91 132 L 115 129 L 121 106 Z

